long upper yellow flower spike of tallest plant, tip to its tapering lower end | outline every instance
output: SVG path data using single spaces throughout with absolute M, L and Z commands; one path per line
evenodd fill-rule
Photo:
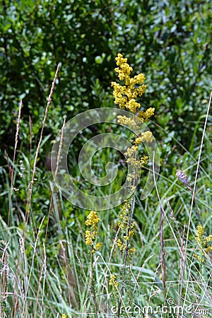
M 141 97 L 145 93 L 146 86 L 143 85 L 145 77 L 142 73 L 131 78 L 131 72 L 133 69 L 129 64 L 127 64 L 127 59 L 124 59 L 122 54 L 118 54 L 117 58 L 117 68 L 114 69 L 119 76 L 120 81 L 125 81 L 125 85 L 122 86 L 119 83 L 112 82 L 114 103 L 118 104 L 120 108 L 130 110 L 133 114 L 136 114 L 137 110 L 141 107 L 139 102 L 136 101 L 137 98 Z M 150 107 L 148 110 L 142 110 L 138 112 L 137 116 L 126 117 L 126 116 L 117 116 L 117 122 L 123 126 L 129 126 L 129 129 L 134 131 L 134 145 L 127 148 L 126 153 L 126 163 L 130 163 L 134 167 L 135 174 L 128 175 L 127 182 L 129 182 L 129 188 L 131 192 L 134 192 L 135 182 L 134 180 L 139 177 L 137 172 L 143 165 L 148 163 L 148 157 L 144 156 L 141 159 L 139 158 L 138 151 L 139 145 L 144 142 L 152 142 L 153 136 L 151 131 L 146 131 L 140 133 L 142 122 L 148 121 L 148 119 L 153 116 L 155 108 Z M 137 135 L 137 136 L 136 136 Z

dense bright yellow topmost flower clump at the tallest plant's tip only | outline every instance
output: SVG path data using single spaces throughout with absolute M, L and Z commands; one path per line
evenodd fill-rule
M 146 85 L 141 85 L 145 81 L 145 77 L 140 73 L 131 78 L 130 75 L 133 69 L 126 63 L 127 59 L 124 59 L 122 54 L 119 53 L 116 60 L 118 67 L 114 71 L 118 73 L 120 81 L 125 81 L 125 86 L 121 86 L 116 82 L 111 83 L 114 89 L 114 103 L 118 104 L 121 109 L 126 108 L 135 114 L 141 107 L 139 102 L 136 102 L 136 99 L 141 97 L 146 90 Z

